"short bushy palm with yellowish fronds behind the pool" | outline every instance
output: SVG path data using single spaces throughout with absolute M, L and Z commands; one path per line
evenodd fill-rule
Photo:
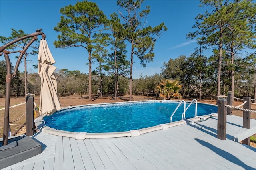
M 159 96 L 163 97 L 164 99 L 170 100 L 173 98 L 182 99 L 181 94 L 179 91 L 182 88 L 182 84 L 179 85 L 179 81 L 176 80 L 162 80 L 156 86 L 156 91 L 159 92 Z

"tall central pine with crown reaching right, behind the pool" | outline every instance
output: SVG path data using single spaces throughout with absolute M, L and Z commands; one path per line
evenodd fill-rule
M 150 7 L 146 6 L 145 10 L 140 10 L 144 0 L 118 0 L 117 5 L 124 11 L 118 10 L 120 17 L 124 21 L 124 34 L 122 37 L 131 43 L 130 55 L 130 101 L 132 100 L 132 65 L 133 55 L 137 55 L 140 64 L 146 67 L 146 63 L 153 61 L 154 45 L 163 31 L 167 30 L 164 23 L 152 28 L 146 27 L 146 18 L 150 12 Z M 144 22 L 142 22 L 144 20 Z M 137 50 L 136 50 L 137 49 Z

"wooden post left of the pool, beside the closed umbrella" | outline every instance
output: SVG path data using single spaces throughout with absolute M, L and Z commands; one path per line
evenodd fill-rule
M 34 135 L 34 97 L 28 93 L 26 97 L 26 136 Z

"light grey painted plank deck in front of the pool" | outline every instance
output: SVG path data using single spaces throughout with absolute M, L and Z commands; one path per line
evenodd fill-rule
M 216 117 L 138 137 L 75 140 L 41 132 L 32 138 L 43 152 L 5 169 L 256 169 L 256 148 L 233 141 L 256 133 L 256 120 L 251 129 L 241 127 L 242 117 L 227 121 L 226 140 L 217 138 Z

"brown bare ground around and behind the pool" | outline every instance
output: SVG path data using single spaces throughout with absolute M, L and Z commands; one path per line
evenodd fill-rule
M 132 101 L 139 101 L 139 100 L 148 100 L 148 99 L 159 99 L 156 97 L 148 97 L 148 96 L 132 96 Z M 95 104 L 95 103 L 112 103 L 112 102 L 122 102 L 122 101 L 129 101 L 129 95 L 124 95 L 119 97 L 116 101 L 114 100 L 114 95 L 104 95 L 103 97 L 100 97 L 98 95 L 93 95 L 92 96 L 92 101 L 89 101 L 88 99 L 88 95 L 70 95 L 70 96 L 64 96 L 64 97 L 59 97 L 60 100 L 60 104 L 62 107 L 66 107 L 66 106 L 76 106 L 76 105 L 86 105 L 86 104 Z M 12 97 L 10 99 L 10 106 L 13 105 L 17 105 L 20 103 L 25 102 L 26 99 L 25 97 Z M 39 105 L 39 101 L 40 101 L 40 96 L 36 96 L 34 97 L 34 102 L 37 103 Z M 186 100 L 189 101 L 189 100 Z M 214 104 L 216 105 L 216 100 L 203 100 L 200 101 L 202 103 L 210 103 L 210 104 Z M 238 106 L 242 104 L 242 101 L 234 101 L 233 105 L 234 106 Z M 0 98 L 0 108 L 4 108 L 5 105 L 5 99 L 4 98 Z M 251 105 L 251 109 L 256 110 L 256 105 Z M 22 116 L 26 111 L 26 106 L 25 105 L 20 105 L 17 107 L 13 107 L 10 108 L 9 110 L 9 115 L 10 115 L 10 122 L 13 122 L 12 124 L 17 124 L 17 125 L 24 125 L 26 122 L 26 114 L 24 116 Z M 237 116 L 243 116 L 243 111 L 239 111 L 239 110 L 234 110 L 232 111 L 233 115 L 237 115 Z M 39 114 L 37 113 L 37 116 L 39 116 Z M 256 114 L 255 113 L 251 113 L 251 118 L 252 119 L 256 119 Z M 17 120 L 19 119 L 19 120 Z M 17 120 L 17 121 L 16 121 Z M 0 136 L 2 137 L 3 135 L 3 126 L 4 126 L 4 110 L 0 110 Z M 26 128 L 22 128 L 23 126 L 14 126 L 14 125 L 10 125 L 11 131 L 12 131 L 12 135 L 15 134 L 25 134 L 26 133 Z M 256 135 L 254 135 L 256 136 Z M 253 147 L 256 147 L 256 143 L 251 142 L 250 144 Z

